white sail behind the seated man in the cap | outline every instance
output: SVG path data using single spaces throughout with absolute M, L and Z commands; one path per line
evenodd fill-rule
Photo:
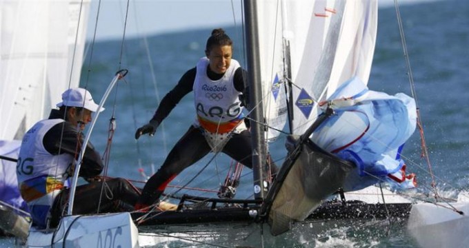
M 78 87 L 88 6 L 0 1 L 0 140 L 21 138 L 48 116 L 61 92 Z

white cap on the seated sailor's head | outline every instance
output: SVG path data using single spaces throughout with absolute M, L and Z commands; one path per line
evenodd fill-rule
M 68 89 L 62 93 L 62 101 L 57 103 L 57 107 L 68 106 L 68 107 L 84 107 L 91 112 L 98 110 L 98 105 L 94 103 L 91 93 L 83 88 Z M 104 107 L 101 107 L 101 111 Z

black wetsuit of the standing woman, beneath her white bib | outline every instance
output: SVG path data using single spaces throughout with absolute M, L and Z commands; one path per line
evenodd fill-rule
M 209 67 L 207 67 L 207 75 L 213 81 L 217 81 L 223 76 L 223 74 L 212 72 Z M 161 123 L 177 103 L 179 103 L 183 96 L 192 92 L 195 76 L 196 68 L 192 68 L 183 74 L 174 89 L 168 92 L 168 94 L 164 96 L 163 100 L 161 100 L 157 111 L 152 117 L 153 120 Z M 238 68 L 234 72 L 234 88 L 239 92 L 244 92 L 245 90 L 245 77 L 246 71 L 242 68 Z M 200 128 L 201 127 L 191 125 L 186 134 L 184 134 L 176 145 L 174 145 L 163 165 L 161 165 L 157 173 L 154 174 L 148 180 L 145 187 L 143 187 L 143 192 L 139 198 L 139 206 L 137 206 L 137 208 L 152 205 L 159 199 L 168 183 L 170 183 L 177 174 L 199 161 L 212 150 L 210 145 L 208 145 L 205 136 L 203 136 L 203 130 Z M 252 144 L 250 132 L 248 130 L 244 130 L 239 134 L 232 133 L 230 140 L 226 143 L 221 152 L 227 154 L 239 163 L 252 168 Z M 273 163 L 271 171 L 272 173 L 277 172 L 277 168 Z

